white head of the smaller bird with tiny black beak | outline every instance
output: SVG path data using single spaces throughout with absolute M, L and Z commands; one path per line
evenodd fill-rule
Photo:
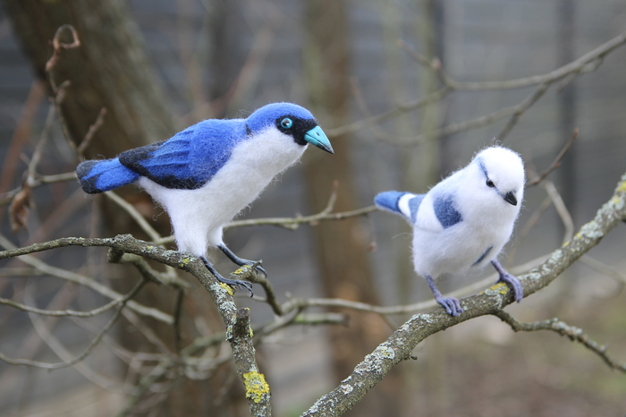
M 524 198 L 524 164 L 511 149 L 492 147 L 482 150 L 471 162 L 478 166 L 479 193 L 498 196 L 519 211 Z

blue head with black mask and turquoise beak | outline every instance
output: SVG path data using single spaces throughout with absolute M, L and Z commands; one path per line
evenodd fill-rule
M 263 106 L 246 119 L 248 133 L 257 134 L 275 127 L 300 146 L 311 144 L 334 153 L 326 133 L 317 125 L 309 110 L 292 103 L 272 103 Z

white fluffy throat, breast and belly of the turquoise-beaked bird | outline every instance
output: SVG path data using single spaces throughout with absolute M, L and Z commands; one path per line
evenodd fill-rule
M 169 189 L 146 177 L 139 184 L 169 214 L 179 250 L 206 256 L 208 246 L 223 243 L 223 226 L 256 200 L 277 174 L 297 162 L 305 149 L 291 136 L 269 127 L 238 145 L 228 162 L 198 190 Z

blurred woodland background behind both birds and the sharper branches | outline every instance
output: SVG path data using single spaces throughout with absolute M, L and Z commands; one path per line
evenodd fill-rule
M 47 72 L 50 42 L 66 23 L 76 28 L 80 47 L 63 50 Z M 446 90 L 438 68 L 459 82 L 547 74 L 624 30 L 622 0 L 3 0 L 0 244 L 8 249 L 62 236 L 125 233 L 152 239 L 113 200 L 86 197 L 72 178 L 34 188 L 26 227 L 11 232 L 8 208 L 16 191 L 41 178 L 29 180 L 33 156 L 39 157 L 38 175 L 71 173 L 79 158 L 65 138 L 78 146 L 103 107 L 101 126 L 80 149 L 88 158 L 165 140 L 206 118 L 245 116 L 268 102 L 292 101 L 317 116 L 335 155 L 307 152 L 240 218 L 318 213 L 334 190 L 334 211 L 370 206 L 379 191 L 427 191 L 494 138 L 519 152 L 533 177 L 578 128 L 549 181 L 527 189 L 502 256 L 503 265 L 525 272 L 513 267 L 558 248 L 594 216 L 626 172 L 626 47 L 545 91 L 537 85 Z M 63 123 L 48 100 L 59 88 Z M 432 99 L 419 102 L 424 98 Z M 556 191 L 569 220 L 554 208 L 550 195 L 558 201 Z M 166 214 L 145 193 L 125 187 L 119 194 L 159 234 L 170 233 Z M 336 297 L 396 305 L 432 298 L 412 270 L 409 231 L 401 219 L 373 212 L 296 230 L 233 227 L 224 242 L 243 258 L 263 260 L 280 302 Z M 554 284 L 507 311 L 523 321 L 563 319 L 626 361 L 625 247 L 621 226 Z M 123 294 L 138 275 L 131 266 L 108 265 L 104 249 L 68 248 L 36 258 Z M 213 259 L 219 271 L 232 271 L 221 254 Z M 50 277 L 37 263 L 3 260 L 0 267 L 5 299 L 79 311 L 109 301 Z M 440 288 L 450 292 L 491 272 L 449 277 Z M 168 375 L 141 396 L 129 388 L 154 370 L 150 354 L 224 331 L 207 292 L 192 277 L 179 277 L 188 282 L 186 290 L 150 284 L 136 300 L 168 314 L 182 311 L 180 339 L 157 319 L 125 312 L 80 366 L 48 371 L 0 362 L 0 414 L 249 415 L 227 345 L 203 353 L 217 358 L 212 368 Z M 236 301 L 250 307 L 253 324 L 274 318 L 266 303 L 243 293 Z M 347 327 L 292 325 L 259 341 L 257 359 L 276 416 L 300 415 L 409 317 L 336 311 L 349 316 Z M 0 306 L 0 353 L 66 361 L 49 335 L 75 356 L 111 314 L 40 318 Z M 623 373 L 566 338 L 515 334 L 494 317 L 429 337 L 415 354 L 417 361 L 397 366 L 348 415 L 626 413 Z M 129 401 L 135 401 L 130 409 Z

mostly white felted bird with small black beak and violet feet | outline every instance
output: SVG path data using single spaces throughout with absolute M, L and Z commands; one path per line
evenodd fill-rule
M 435 284 L 443 274 L 459 274 L 491 262 L 498 282 L 523 298 L 520 281 L 506 272 L 497 256 L 509 241 L 524 197 L 524 165 L 511 149 L 482 150 L 468 166 L 437 183 L 426 194 L 385 191 L 379 209 L 399 214 L 413 226 L 413 265 L 425 277 L 435 300 L 458 316 L 459 300 L 444 297 Z

